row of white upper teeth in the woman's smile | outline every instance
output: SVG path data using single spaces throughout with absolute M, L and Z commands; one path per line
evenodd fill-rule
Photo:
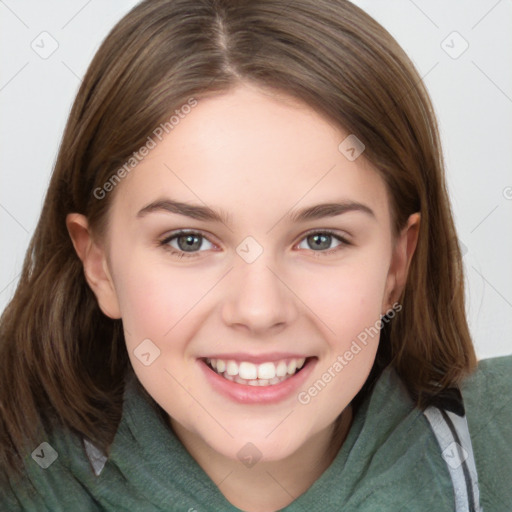
M 249 363 L 248 361 L 236 362 L 232 359 L 207 359 L 207 362 L 217 371 L 217 373 L 226 372 L 228 375 L 238 375 L 242 379 L 273 379 L 274 377 L 284 377 L 286 374 L 293 375 L 296 370 L 304 366 L 305 358 L 288 359 L 276 362 L 262 364 Z

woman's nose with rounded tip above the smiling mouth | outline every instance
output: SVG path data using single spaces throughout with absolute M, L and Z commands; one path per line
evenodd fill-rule
M 264 252 L 256 261 L 239 260 L 230 272 L 222 307 L 226 325 L 263 336 L 275 334 L 297 318 L 296 298 L 286 276 Z

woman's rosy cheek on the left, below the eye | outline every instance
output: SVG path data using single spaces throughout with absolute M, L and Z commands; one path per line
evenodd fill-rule
M 176 403 L 188 403 L 181 385 L 193 385 L 193 368 L 185 356 L 198 325 L 194 306 L 212 285 L 197 274 L 150 260 L 133 251 L 117 268 L 126 348 L 138 379 L 159 403 L 169 393 Z

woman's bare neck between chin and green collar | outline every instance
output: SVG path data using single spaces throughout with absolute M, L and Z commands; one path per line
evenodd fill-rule
M 224 497 L 245 512 L 274 512 L 305 493 L 336 458 L 352 423 L 349 405 L 338 421 L 312 436 L 286 459 L 247 468 L 214 451 L 172 418 L 176 436 Z

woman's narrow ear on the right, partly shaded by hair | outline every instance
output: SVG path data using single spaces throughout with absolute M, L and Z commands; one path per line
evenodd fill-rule
M 393 248 L 393 256 L 386 280 L 386 289 L 382 300 L 382 314 L 388 311 L 394 302 L 402 294 L 407 274 L 411 264 L 412 256 L 418 243 L 420 231 L 420 214 L 413 213 L 408 219 L 406 226 L 398 235 Z

